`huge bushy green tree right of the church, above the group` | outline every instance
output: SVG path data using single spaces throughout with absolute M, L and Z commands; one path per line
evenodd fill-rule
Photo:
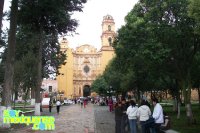
M 140 91 L 182 90 L 192 122 L 191 73 L 192 68 L 198 69 L 194 62 L 199 35 L 194 32 L 197 23 L 188 16 L 187 6 L 187 0 L 139 1 L 126 16 L 114 47 L 117 60 L 122 62 L 120 72 L 134 78 Z

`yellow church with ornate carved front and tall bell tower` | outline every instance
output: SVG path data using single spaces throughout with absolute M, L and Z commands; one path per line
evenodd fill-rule
M 67 55 L 66 64 L 59 69 L 58 91 L 64 92 L 67 98 L 87 95 L 87 89 L 98 75 L 102 74 L 115 56 L 111 46 L 115 36 L 115 22 L 112 16 L 106 15 L 102 21 L 101 49 L 84 44 L 73 50 L 68 47 L 65 38 L 61 41 L 61 50 Z

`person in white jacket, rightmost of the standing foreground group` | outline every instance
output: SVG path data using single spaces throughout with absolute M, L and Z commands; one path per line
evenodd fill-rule
M 154 133 L 160 133 L 160 126 L 164 123 L 163 108 L 159 104 L 157 98 L 152 98 L 153 102 L 153 118 L 155 119 Z

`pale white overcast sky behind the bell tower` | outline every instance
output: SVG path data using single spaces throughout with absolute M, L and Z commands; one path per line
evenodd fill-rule
M 10 0 L 5 0 L 5 8 L 8 9 Z M 67 36 L 70 47 L 90 44 L 96 48 L 101 47 L 101 23 L 103 16 L 113 16 L 116 30 L 124 25 L 124 17 L 133 8 L 138 0 L 88 0 L 84 4 L 83 12 L 74 13 L 73 18 L 79 21 L 76 32 L 79 35 Z

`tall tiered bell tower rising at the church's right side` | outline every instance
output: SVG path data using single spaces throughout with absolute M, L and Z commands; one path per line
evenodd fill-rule
M 115 22 L 111 15 L 103 17 L 102 35 L 101 35 L 101 49 L 111 49 L 115 36 Z M 110 48 L 109 48 L 110 47 Z

